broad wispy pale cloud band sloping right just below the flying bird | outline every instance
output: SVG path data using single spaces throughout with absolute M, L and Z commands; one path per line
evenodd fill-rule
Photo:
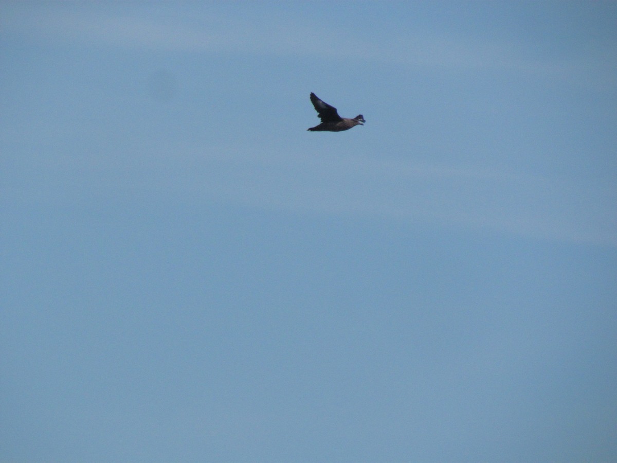
M 480 230 L 550 241 L 617 246 L 617 192 L 557 176 L 495 168 L 418 164 L 362 156 L 327 159 L 230 146 L 161 152 L 142 172 L 187 201 L 228 201 L 263 209 L 360 216 Z M 170 172 L 169 159 L 177 172 Z M 159 178 L 160 174 L 160 178 Z M 156 175 L 153 181 L 150 175 Z M 179 181 L 181 179 L 181 181 Z M 201 199 L 200 199 L 201 198 Z

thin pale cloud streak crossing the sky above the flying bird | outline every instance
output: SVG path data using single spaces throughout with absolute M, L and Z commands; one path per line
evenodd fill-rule
M 466 72 L 504 70 L 550 78 L 572 78 L 590 85 L 617 83 L 617 52 L 594 49 L 568 60 L 542 60 L 526 56 L 514 44 L 470 41 L 444 35 L 413 33 L 373 38 L 357 46 L 357 40 L 319 25 L 273 22 L 263 28 L 259 21 L 231 20 L 224 15 L 196 25 L 166 17 L 113 15 L 107 12 L 56 12 L 5 21 L 4 31 L 38 35 L 144 51 L 238 52 L 275 56 L 313 56 L 330 59 L 370 60 L 416 68 L 439 68 Z M 332 44 L 337 46 L 333 47 Z M 395 44 L 393 46 L 393 44 Z

